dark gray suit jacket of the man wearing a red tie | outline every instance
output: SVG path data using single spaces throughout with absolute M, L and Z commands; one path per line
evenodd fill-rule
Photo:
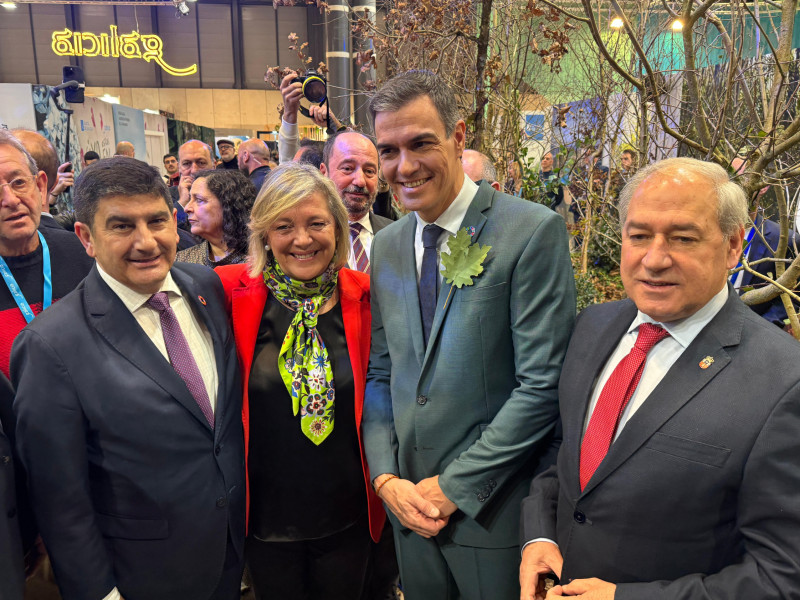
M 523 542 L 555 540 L 562 582 L 599 577 L 616 600 L 800 598 L 800 345 L 730 286 L 580 491 L 592 387 L 635 316 L 625 300 L 578 318 L 563 443 L 523 502 Z

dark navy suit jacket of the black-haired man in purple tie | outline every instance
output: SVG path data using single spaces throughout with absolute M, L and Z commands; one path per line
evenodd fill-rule
M 214 344 L 212 430 L 93 268 L 14 342 L 17 446 L 65 600 L 208 598 L 245 531 L 241 386 L 222 285 L 172 276 Z

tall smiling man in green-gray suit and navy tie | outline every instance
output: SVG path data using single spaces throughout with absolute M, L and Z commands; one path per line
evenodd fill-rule
M 370 111 L 383 173 L 414 211 L 372 246 L 363 420 L 403 590 L 517 598 L 519 505 L 555 428 L 575 315 L 564 222 L 464 176 L 464 121 L 432 73 L 392 79 Z M 458 232 L 491 246 L 460 288 L 438 257 Z

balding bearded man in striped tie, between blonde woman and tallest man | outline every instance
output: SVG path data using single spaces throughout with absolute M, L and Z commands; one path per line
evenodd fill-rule
M 378 193 L 378 151 L 364 134 L 340 131 L 325 142 L 319 170 L 336 185 L 350 221 L 350 256 L 347 266 L 369 273 L 372 238 L 391 219 L 370 210 Z

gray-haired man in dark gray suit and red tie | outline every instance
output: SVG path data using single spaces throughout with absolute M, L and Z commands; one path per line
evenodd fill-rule
M 522 598 L 549 572 L 548 598 L 798 598 L 800 346 L 727 284 L 744 193 L 668 159 L 619 210 L 629 299 L 577 320 L 558 462 L 523 503 Z

